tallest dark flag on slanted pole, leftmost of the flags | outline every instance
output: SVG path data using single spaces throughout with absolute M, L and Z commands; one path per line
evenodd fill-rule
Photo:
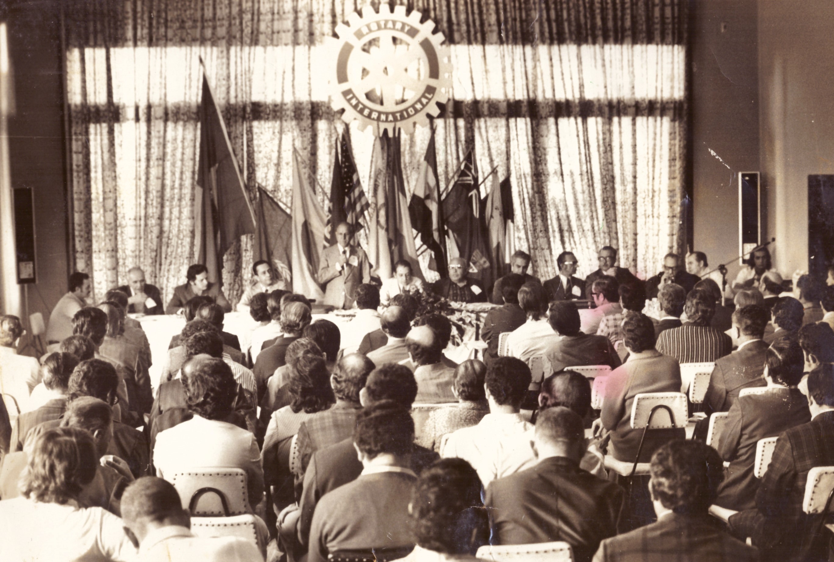
M 198 263 L 208 268 L 208 279 L 222 282 L 220 270 L 229 246 L 244 234 L 254 234 L 254 210 L 204 67 L 202 96 L 194 250 Z

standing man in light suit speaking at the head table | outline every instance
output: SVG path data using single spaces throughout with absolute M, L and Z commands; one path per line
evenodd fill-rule
M 336 308 L 354 306 L 354 291 L 370 281 L 370 264 L 362 248 L 350 246 L 350 225 L 339 223 L 336 243 L 321 253 L 319 284 L 326 286 L 324 304 Z

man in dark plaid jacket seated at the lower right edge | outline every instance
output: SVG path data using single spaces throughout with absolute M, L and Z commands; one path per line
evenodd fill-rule
M 756 509 L 730 516 L 730 531 L 750 537 L 764 560 L 825 560 L 830 532 L 815 536 L 820 515 L 802 511 L 808 471 L 834 466 L 834 367 L 808 375 L 811 421 L 776 439 L 771 463 L 756 491 Z

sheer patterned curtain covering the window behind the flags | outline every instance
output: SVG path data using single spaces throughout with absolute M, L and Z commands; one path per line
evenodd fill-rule
M 470 146 L 482 178 L 493 169 L 509 175 L 515 246 L 530 251 L 535 275 L 553 276 L 563 250 L 590 273 L 606 244 L 620 249 L 620 265 L 651 275 L 667 251 L 682 249 L 684 0 L 405 4 L 433 19 L 451 47 L 454 87 L 435 119 L 440 181 Z M 319 69 L 325 38 L 358 3 L 66 7 L 73 257 L 97 296 L 135 265 L 166 297 L 184 282 L 193 260 L 199 57 L 249 188 L 263 185 L 289 207 L 295 147 L 324 202 L 343 124 Z M 351 134 L 366 180 L 373 138 Z M 403 139 L 409 190 L 428 141 L 425 128 Z M 233 300 L 249 281 L 250 248 L 244 239 L 224 259 Z

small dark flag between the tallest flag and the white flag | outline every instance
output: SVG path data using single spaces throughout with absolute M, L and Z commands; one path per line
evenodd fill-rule
M 260 185 L 257 210 L 253 259 L 269 261 L 282 279 L 292 281 L 293 221 L 284 206 Z

